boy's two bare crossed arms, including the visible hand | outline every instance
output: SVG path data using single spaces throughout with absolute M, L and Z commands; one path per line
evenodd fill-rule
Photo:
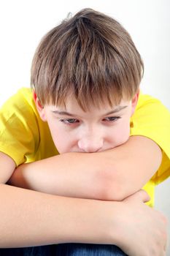
M 144 192 L 131 195 L 160 163 L 160 148 L 139 136 L 110 151 L 63 154 L 14 173 L 15 162 L 0 152 L 1 183 L 12 175 L 9 183 L 31 189 L 0 185 L 0 247 L 80 242 L 116 244 L 131 256 L 164 255 L 166 218 L 144 204 Z

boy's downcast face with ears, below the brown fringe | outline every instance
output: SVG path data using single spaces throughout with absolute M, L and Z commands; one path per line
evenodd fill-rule
M 134 113 L 138 94 L 130 102 L 122 100 L 113 108 L 106 102 L 101 108 L 91 106 L 84 112 L 74 97 L 66 100 L 66 107 L 45 105 L 34 94 L 36 108 L 47 121 L 56 148 L 67 152 L 99 152 L 120 146 L 128 140 L 130 118 Z

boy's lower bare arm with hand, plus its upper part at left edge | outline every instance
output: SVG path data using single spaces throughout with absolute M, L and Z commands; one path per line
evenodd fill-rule
M 163 255 L 166 219 L 143 203 L 144 191 L 123 202 L 47 195 L 2 184 L 14 167 L 0 152 L 0 248 L 78 242 L 115 244 L 131 256 Z

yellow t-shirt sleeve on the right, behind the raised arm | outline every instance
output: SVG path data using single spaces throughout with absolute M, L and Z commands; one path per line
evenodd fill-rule
M 170 112 L 158 99 L 141 94 L 131 123 L 131 135 L 150 138 L 163 152 L 161 166 L 152 177 L 159 184 L 170 175 Z

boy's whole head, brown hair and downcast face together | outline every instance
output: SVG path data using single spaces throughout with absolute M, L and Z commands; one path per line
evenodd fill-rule
M 129 136 L 129 120 L 136 106 L 143 68 L 128 32 L 100 12 L 82 10 L 45 35 L 34 55 L 31 86 L 39 114 L 48 122 L 58 151 L 103 151 L 124 143 Z M 118 106 L 126 108 L 112 116 L 107 114 Z M 55 118 L 60 122 L 57 127 Z M 99 123 L 102 129 L 97 128 Z M 58 145 L 61 124 L 61 130 L 67 133 L 63 132 Z M 104 144 L 98 143 L 101 145 L 90 149 L 78 141 L 77 146 L 72 141 L 66 147 L 73 130 L 81 138 L 87 133 L 91 145 L 95 133 L 98 138 L 106 139 Z M 110 141 L 108 132 L 115 142 Z

